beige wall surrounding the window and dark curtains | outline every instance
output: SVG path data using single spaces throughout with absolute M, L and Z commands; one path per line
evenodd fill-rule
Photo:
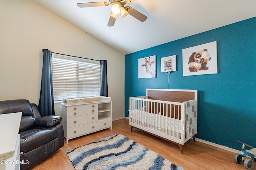
M 0 100 L 38 104 L 42 49 L 107 60 L 113 119 L 124 117 L 124 54 L 30 0 L 0 0 Z

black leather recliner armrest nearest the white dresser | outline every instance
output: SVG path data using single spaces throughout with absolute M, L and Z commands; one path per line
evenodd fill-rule
M 35 121 L 35 126 L 36 127 L 52 127 L 62 121 L 62 117 L 60 116 L 43 116 L 39 117 Z

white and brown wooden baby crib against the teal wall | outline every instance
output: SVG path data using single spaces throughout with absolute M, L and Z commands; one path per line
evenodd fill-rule
M 131 97 L 129 124 L 180 146 L 197 133 L 197 90 L 147 89 Z

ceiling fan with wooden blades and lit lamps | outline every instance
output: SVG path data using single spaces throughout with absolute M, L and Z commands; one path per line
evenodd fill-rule
M 109 0 L 109 2 L 86 2 L 86 3 L 78 3 L 77 6 L 80 8 L 84 7 L 95 7 L 95 6 L 109 6 L 111 7 L 111 14 L 108 20 L 108 26 L 112 27 L 115 24 L 116 19 L 118 18 L 118 14 L 121 14 L 121 18 L 126 17 L 128 14 L 136 18 L 140 21 L 146 21 L 147 16 L 141 14 L 134 8 L 130 6 L 125 6 L 126 3 L 134 2 L 136 0 Z

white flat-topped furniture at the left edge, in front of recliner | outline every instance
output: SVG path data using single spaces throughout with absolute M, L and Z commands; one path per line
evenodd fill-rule
M 7 159 L 11 158 L 16 161 L 17 154 L 20 154 L 20 148 L 17 145 L 20 144 L 18 133 L 21 115 L 22 112 L 0 115 L 0 170 L 5 169 L 8 164 Z M 18 153 L 14 154 L 15 149 Z

